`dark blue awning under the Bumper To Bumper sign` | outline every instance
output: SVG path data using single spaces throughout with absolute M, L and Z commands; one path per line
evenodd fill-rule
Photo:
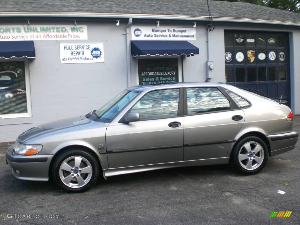
M 131 41 L 131 55 L 199 55 L 199 48 L 187 41 Z

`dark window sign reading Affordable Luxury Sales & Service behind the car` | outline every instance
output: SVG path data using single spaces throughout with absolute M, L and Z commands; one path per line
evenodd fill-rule
M 178 81 L 178 58 L 138 58 L 139 85 Z

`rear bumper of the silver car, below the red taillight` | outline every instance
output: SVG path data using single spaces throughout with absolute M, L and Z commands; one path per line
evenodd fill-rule
M 274 156 L 293 150 L 298 141 L 298 133 L 292 131 L 284 134 L 269 135 L 267 138 L 271 147 L 270 156 Z

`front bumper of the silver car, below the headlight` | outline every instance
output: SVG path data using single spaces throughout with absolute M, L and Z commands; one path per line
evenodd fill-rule
M 6 162 L 12 168 L 13 176 L 29 181 L 48 181 L 49 165 L 54 155 L 18 155 L 12 146 L 7 150 Z

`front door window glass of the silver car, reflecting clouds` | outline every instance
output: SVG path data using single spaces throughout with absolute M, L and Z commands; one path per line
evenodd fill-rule
M 175 117 L 178 113 L 179 89 L 151 91 L 138 101 L 131 112 L 141 120 Z

